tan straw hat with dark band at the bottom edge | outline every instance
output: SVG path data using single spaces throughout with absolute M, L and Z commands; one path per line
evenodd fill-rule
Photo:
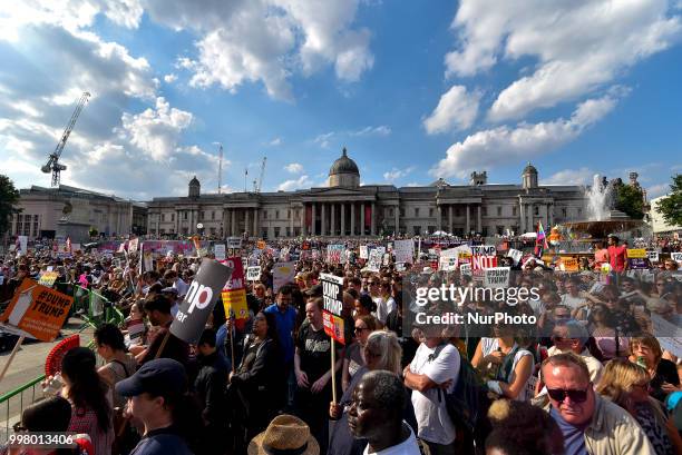
M 249 455 L 319 455 L 320 445 L 305 422 L 289 414 L 276 416 L 267 429 L 249 443 Z

